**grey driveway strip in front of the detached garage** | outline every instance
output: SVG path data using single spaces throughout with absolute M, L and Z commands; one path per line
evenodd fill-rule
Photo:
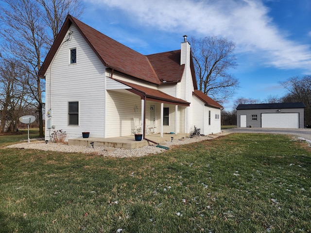
M 288 134 L 311 140 L 311 129 L 280 129 L 280 128 L 232 128 L 224 133 L 276 133 Z

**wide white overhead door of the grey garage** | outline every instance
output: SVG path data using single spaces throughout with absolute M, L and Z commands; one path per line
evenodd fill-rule
M 262 128 L 299 128 L 298 113 L 263 113 L 261 114 Z

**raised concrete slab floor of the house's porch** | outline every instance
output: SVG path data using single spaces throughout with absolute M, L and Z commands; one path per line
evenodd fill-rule
M 165 133 L 163 137 L 160 137 L 160 133 L 148 134 L 145 138 L 150 139 L 158 144 L 164 141 L 171 141 L 171 137 L 174 139 L 186 138 L 189 137 L 189 133 L 178 133 L 170 134 Z M 98 138 L 98 137 L 89 137 L 89 138 L 72 138 L 68 139 L 68 145 L 78 145 L 78 146 L 90 146 L 90 143 L 94 142 L 94 146 L 97 147 L 115 147 L 115 148 L 124 148 L 124 149 L 134 149 L 138 147 L 144 147 L 148 145 L 153 145 L 152 142 L 147 140 L 135 141 L 134 135 L 123 136 L 123 137 L 110 137 L 110 138 Z

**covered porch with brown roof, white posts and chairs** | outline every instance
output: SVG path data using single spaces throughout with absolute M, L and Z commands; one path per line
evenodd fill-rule
M 110 78 L 106 89 L 104 138 L 140 133 L 148 141 L 150 135 L 190 133 L 189 102 L 157 89 Z

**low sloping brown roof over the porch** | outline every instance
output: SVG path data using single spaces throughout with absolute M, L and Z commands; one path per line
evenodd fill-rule
M 131 87 L 132 89 L 127 89 L 127 90 L 140 96 L 141 98 L 146 97 L 146 100 L 169 103 L 169 104 L 174 104 L 174 105 L 190 106 L 190 102 L 187 102 L 179 98 L 175 98 L 157 89 L 152 89 L 152 88 L 141 86 L 141 85 L 134 84 L 134 83 L 128 83 L 128 82 L 121 81 L 118 79 L 115 79 L 115 80 L 119 83 L 123 83 Z

